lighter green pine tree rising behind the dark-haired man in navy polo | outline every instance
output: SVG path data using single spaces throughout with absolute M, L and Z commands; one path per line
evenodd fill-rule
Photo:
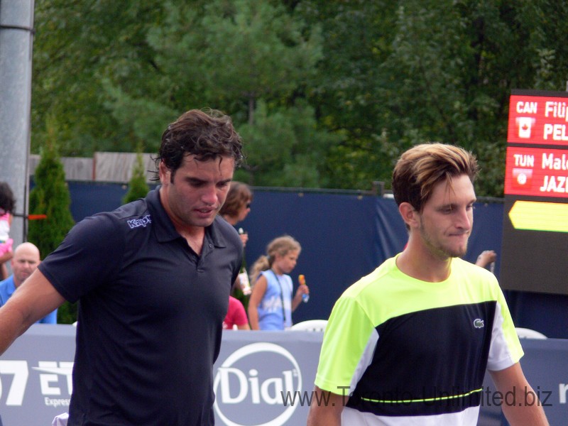
M 173 99 L 195 99 L 231 114 L 247 160 L 236 178 L 251 185 L 327 186 L 322 171 L 337 137 L 322 131 L 305 102 L 305 81 L 321 58 L 317 26 L 307 28 L 276 1 L 209 2 L 202 10 L 168 2 L 168 25 L 148 35 Z

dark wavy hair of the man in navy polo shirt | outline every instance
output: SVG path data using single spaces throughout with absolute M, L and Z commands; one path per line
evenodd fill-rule
M 231 117 L 216 109 L 192 109 L 165 129 L 155 158 L 156 168 L 163 161 L 173 180 L 186 155 L 195 155 L 198 161 L 234 158 L 237 167 L 243 160 L 242 148 L 241 136 L 236 133 Z M 158 176 L 153 179 L 159 180 Z

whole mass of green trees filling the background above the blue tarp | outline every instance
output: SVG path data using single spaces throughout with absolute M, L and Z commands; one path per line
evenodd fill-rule
M 415 143 L 473 151 L 503 193 L 511 89 L 565 89 L 568 4 L 467 0 L 44 0 L 32 148 L 155 150 L 191 108 L 230 114 L 254 185 L 371 189 Z

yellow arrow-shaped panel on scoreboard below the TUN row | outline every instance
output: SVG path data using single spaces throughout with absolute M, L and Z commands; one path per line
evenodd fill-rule
M 568 232 L 568 203 L 515 201 L 509 219 L 515 229 Z

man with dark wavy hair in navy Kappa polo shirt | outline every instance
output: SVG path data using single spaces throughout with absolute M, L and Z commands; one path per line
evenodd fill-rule
M 168 126 L 160 186 L 77 224 L 0 309 L 0 352 L 79 301 L 69 426 L 213 425 L 212 368 L 242 244 L 218 216 L 241 162 L 218 111 Z

